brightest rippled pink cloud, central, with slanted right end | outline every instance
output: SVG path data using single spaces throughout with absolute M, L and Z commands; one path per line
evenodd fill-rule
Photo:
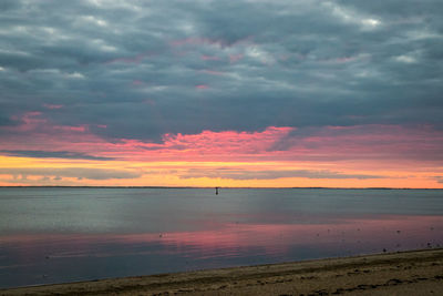
M 116 143 L 105 143 L 93 137 L 94 143 L 71 143 L 70 151 L 87 153 L 94 152 L 97 156 L 123 157 L 126 160 L 197 160 L 229 157 L 238 155 L 259 155 L 267 153 L 292 127 L 268 127 L 262 132 L 212 132 L 198 134 L 165 134 L 163 143 L 146 143 L 138 140 L 124 140 Z M 85 133 L 87 135 L 87 131 Z M 68 146 L 68 144 L 65 145 Z M 85 151 L 86 150 L 86 151 Z

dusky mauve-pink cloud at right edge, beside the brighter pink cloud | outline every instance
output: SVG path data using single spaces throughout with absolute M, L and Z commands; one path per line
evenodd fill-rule
M 443 133 L 431 126 L 323 126 L 309 135 L 282 139 L 275 149 L 306 159 L 326 160 L 443 160 Z

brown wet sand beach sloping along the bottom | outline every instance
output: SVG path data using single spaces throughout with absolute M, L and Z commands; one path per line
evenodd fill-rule
M 0 295 L 443 295 L 443 248 L 1 289 Z

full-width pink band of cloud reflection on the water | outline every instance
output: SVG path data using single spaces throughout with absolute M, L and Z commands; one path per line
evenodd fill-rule
M 210 222 L 209 222 L 210 224 Z M 155 244 L 156 248 L 174 246 L 177 249 L 193 247 L 202 254 L 225 248 L 261 246 L 269 253 L 284 253 L 293 245 L 322 245 L 323 243 L 371 242 L 371 245 L 389 245 L 396 241 L 410 241 L 420 247 L 422 243 L 443 237 L 441 216 L 383 216 L 378 218 L 329 218 L 328 223 L 296 224 L 244 224 L 227 223 L 209 231 L 141 233 L 141 234 L 48 234 L 10 235 L 2 237 L 3 247 L 17 251 L 39 248 L 53 242 L 54 246 L 74 248 L 75 253 L 99 255 L 110 245 Z M 89 249 L 93 247 L 93 249 Z M 144 251 L 145 252 L 145 251 Z M 178 251 L 177 251 L 178 252 Z M 70 254 L 70 253 L 65 253 Z M 72 253 L 74 254 L 74 253 Z M 58 256 L 61 256 L 60 253 Z M 55 256 L 53 254 L 53 256 Z M 74 255 L 73 255 L 74 256 Z M 78 255 L 75 255 L 78 256 Z M 1 257 L 0 257 L 1 258 Z

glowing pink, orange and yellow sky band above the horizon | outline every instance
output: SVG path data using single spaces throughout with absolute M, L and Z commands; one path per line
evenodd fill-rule
M 326 126 L 308 135 L 269 126 L 153 143 L 110 142 L 93 133 L 105 126 L 52 125 L 39 112 L 21 122 L 0 144 L 0 185 L 443 187 L 443 134 L 431 126 Z

